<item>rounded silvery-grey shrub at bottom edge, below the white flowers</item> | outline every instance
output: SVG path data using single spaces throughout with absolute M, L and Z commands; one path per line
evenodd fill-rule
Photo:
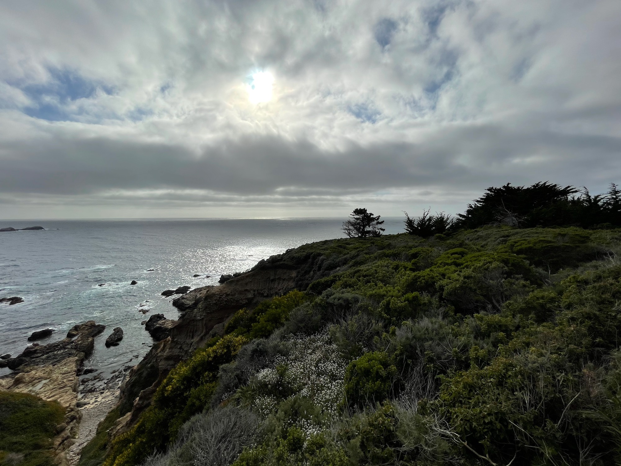
M 227 466 L 252 445 L 260 419 L 248 409 L 218 406 L 196 414 L 179 430 L 165 454 L 149 457 L 143 466 Z

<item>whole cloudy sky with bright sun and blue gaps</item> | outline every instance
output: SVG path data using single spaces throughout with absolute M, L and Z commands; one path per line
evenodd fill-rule
M 461 212 L 621 183 L 619 0 L 0 2 L 0 218 Z

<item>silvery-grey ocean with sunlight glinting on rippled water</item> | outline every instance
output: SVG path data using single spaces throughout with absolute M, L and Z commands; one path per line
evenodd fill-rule
M 386 234 L 403 232 L 403 219 L 385 219 Z M 0 232 L 0 354 L 15 357 L 35 330 L 51 328 L 46 344 L 75 324 L 94 320 L 106 331 L 86 366 L 107 375 L 135 365 L 153 340 L 142 321 L 161 313 L 176 319 L 176 296 L 161 291 L 217 285 L 224 273 L 309 242 L 343 237 L 343 219 L 143 219 L 0 221 L 1 227 L 45 230 Z M 198 274 L 198 277 L 193 275 Z M 130 285 L 132 280 L 136 285 Z M 146 314 L 140 309 L 147 310 Z M 124 339 L 106 348 L 121 327 Z M 0 375 L 9 372 L 0 369 Z

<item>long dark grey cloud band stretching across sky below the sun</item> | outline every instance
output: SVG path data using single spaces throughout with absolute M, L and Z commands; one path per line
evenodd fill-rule
M 425 144 L 350 144 L 327 152 L 309 142 L 243 137 L 193 152 L 181 145 L 86 139 L 4 147 L 4 191 L 94 194 L 107 190 L 209 190 L 264 196 L 283 188 L 305 196 L 364 193 L 386 186 L 482 186 L 505 176 L 584 180 L 598 185 L 621 173 L 621 138 L 518 134 L 492 126 L 445 128 Z M 563 167 L 560 170 L 560 167 Z M 612 178 L 611 178 L 612 179 Z

